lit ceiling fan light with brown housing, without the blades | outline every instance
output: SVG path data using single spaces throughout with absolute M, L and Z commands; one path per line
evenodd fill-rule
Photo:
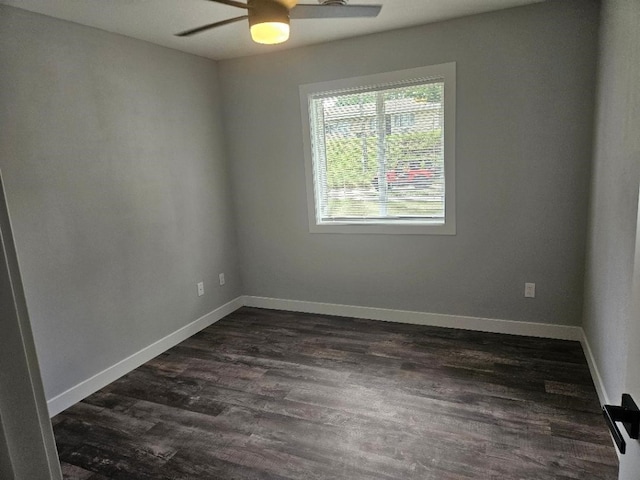
M 249 26 L 256 43 L 275 45 L 289 39 L 289 10 L 277 1 L 249 0 Z

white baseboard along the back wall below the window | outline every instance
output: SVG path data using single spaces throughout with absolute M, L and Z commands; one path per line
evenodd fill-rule
M 412 323 L 433 327 L 458 328 L 480 332 L 505 333 L 529 337 L 555 338 L 560 340 L 581 341 L 582 328 L 547 323 L 518 322 L 493 318 L 465 317 L 441 313 L 414 312 L 409 310 L 391 310 L 387 308 L 359 307 L 334 303 L 305 302 L 283 300 L 279 298 L 244 296 L 243 303 L 248 307 L 289 310 L 292 312 L 318 313 L 341 317 L 356 317 L 385 322 Z

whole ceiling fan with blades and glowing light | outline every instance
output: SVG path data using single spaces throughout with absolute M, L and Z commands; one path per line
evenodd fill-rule
M 208 0 L 247 10 L 247 15 L 209 23 L 177 33 L 188 37 L 212 28 L 248 19 L 251 38 L 256 43 L 276 44 L 289 38 L 289 19 L 376 17 L 382 5 L 347 5 L 346 0 L 318 0 L 318 5 L 300 4 L 297 0 Z

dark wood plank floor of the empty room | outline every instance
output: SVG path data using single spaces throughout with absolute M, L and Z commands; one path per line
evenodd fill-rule
M 53 419 L 66 479 L 606 479 L 578 342 L 242 308 Z

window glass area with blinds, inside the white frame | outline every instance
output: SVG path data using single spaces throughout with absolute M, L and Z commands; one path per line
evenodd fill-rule
M 443 223 L 444 82 L 310 98 L 317 220 Z

